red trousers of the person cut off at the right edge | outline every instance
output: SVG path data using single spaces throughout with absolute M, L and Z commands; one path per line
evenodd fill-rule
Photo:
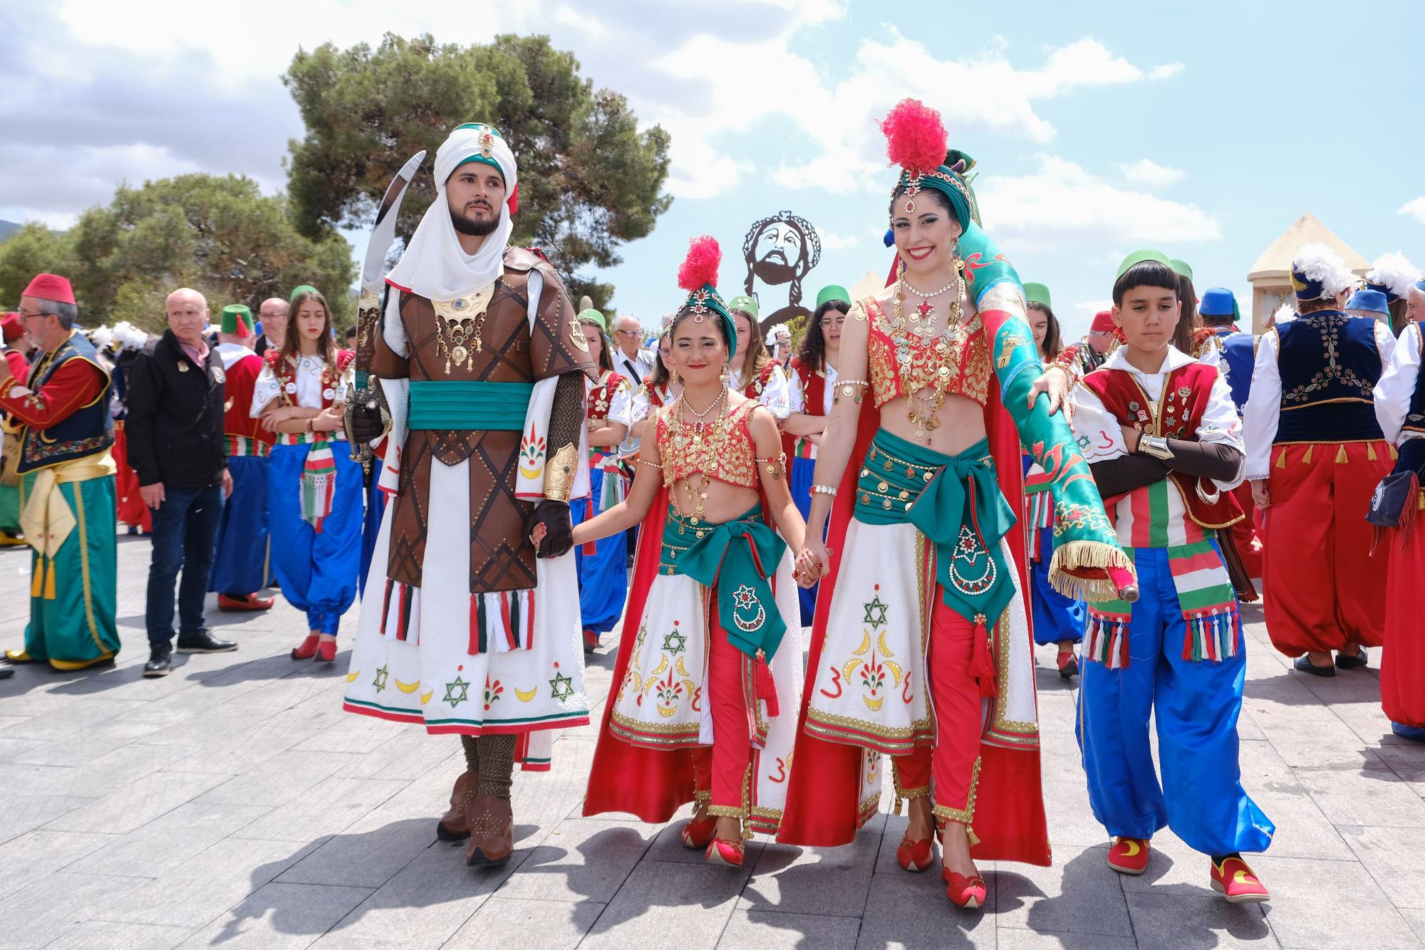
M 1422 499 L 1425 501 L 1425 499 Z M 1425 591 L 1425 531 L 1419 517 L 1405 538 L 1392 531 L 1385 583 L 1385 649 L 1381 651 L 1381 709 L 1391 722 L 1425 728 L 1425 628 L 1419 601 Z M 1387 544 L 1381 546 L 1385 550 Z M 1379 551 L 1375 555 L 1379 558 Z

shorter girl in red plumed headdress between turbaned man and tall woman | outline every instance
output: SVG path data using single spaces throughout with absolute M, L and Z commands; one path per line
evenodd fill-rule
M 695 802 L 684 845 L 741 865 L 752 830 L 777 832 L 787 795 L 801 696 L 788 544 L 805 523 L 777 423 L 727 383 L 737 332 L 720 259 L 712 238 L 693 242 L 671 326 L 683 395 L 654 413 L 628 497 L 577 526 L 574 544 L 643 523 L 584 815 L 665 822 Z

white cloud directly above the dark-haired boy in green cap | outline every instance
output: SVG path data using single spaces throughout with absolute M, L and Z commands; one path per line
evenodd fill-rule
M 1217 221 L 1196 205 L 1117 188 L 1057 155 L 1039 155 L 1027 175 L 995 175 L 979 187 L 985 221 L 1002 245 L 1052 249 L 1067 241 L 1178 244 L 1218 241 Z

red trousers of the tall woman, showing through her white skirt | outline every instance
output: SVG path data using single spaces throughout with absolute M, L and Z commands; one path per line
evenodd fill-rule
M 966 826 L 975 818 L 985 715 L 979 684 L 970 674 L 973 657 L 973 624 L 946 607 L 943 591 L 936 587 L 925 661 L 935 711 L 935 748 L 918 745 L 892 762 L 898 795 L 921 798 L 931 795 L 933 785 L 935 816 Z

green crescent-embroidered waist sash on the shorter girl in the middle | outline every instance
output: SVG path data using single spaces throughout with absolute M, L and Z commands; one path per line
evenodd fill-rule
M 728 641 L 748 657 L 762 654 L 771 662 L 787 622 L 768 578 L 785 551 L 787 541 L 762 521 L 761 503 L 722 524 L 694 523 L 670 506 L 658 570 L 717 588 L 718 622 Z

